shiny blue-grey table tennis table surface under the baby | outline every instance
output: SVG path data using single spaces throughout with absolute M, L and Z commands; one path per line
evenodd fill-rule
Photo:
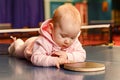
M 0 46 L 1 48 L 2 46 Z M 37 67 L 25 59 L 7 55 L 8 45 L 0 51 L 0 80 L 120 80 L 120 47 L 85 46 L 87 60 L 105 64 L 97 72 L 75 72 L 56 67 Z

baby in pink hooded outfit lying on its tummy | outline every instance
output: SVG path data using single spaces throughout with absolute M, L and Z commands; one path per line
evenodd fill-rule
M 64 63 L 84 62 L 86 52 L 78 40 L 81 28 L 79 11 L 72 4 L 59 6 L 52 17 L 43 22 L 38 37 L 25 42 L 11 37 L 8 48 L 12 56 L 26 58 L 36 66 L 56 66 Z

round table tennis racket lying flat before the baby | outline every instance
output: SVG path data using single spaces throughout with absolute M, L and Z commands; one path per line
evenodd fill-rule
M 66 63 L 63 65 L 64 69 L 72 71 L 101 71 L 105 70 L 105 65 L 97 62 L 77 62 L 77 63 Z

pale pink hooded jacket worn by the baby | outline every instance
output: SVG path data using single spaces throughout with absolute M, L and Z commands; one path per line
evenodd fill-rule
M 33 38 L 32 41 L 26 41 L 25 57 L 37 66 L 55 66 L 57 60 L 56 57 L 51 56 L 52 52 L 61 50 L 61 47 L 52 40 L 51 35 L 46 31 L 50 21 L 51 19 L 46 20 L 42 24 L 40 36 Z M 64 51 L 67 53 L 68 60 L 84 62 L 86 59 L 86 52 L 78 39 Z

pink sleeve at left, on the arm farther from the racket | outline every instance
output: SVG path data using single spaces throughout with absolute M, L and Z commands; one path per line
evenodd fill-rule
M 44 44 L 44 43 L 43 43 Z M 36 66 L 55 66 L 57 57 L 47 53 L 45 46 L 35 43 L 31 62 Z

